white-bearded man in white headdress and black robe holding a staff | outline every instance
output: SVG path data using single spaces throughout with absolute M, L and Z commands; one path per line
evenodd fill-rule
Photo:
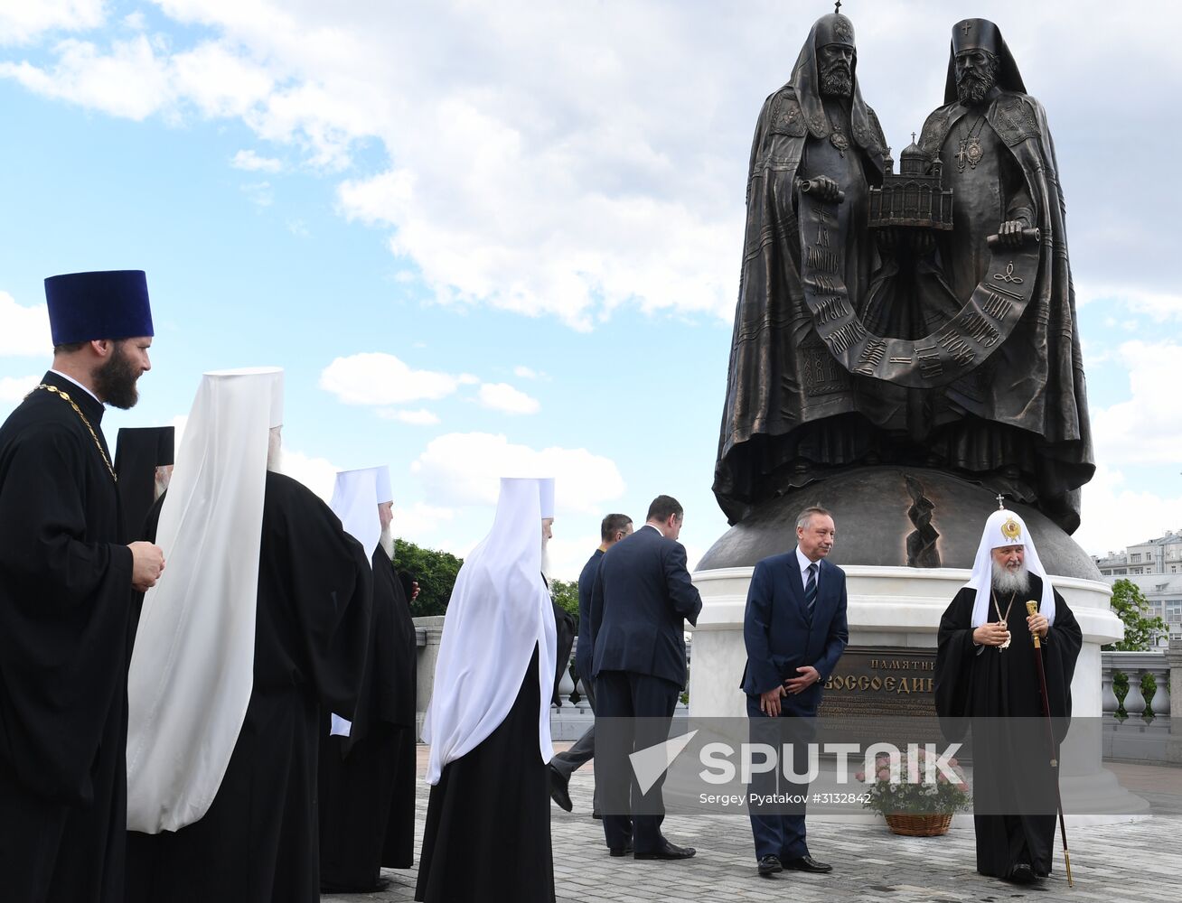
M 952 733 L 960 737 L 972 725 L 981 875 L 1026 884 L 1051 873 L 1058 797 L 1052 763 L 1071 718 L 1082 643 L 1079 623 L 1051 584 L 1025 521 L 994 511 L 973 575 L 940 620 L 935 678 L 936 713 L 954 725 Z M 1054 748 L 1047 748 L 1035 655 L 1046 675 Z

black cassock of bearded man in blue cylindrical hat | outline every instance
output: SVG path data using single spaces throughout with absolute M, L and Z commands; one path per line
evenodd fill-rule
M 131 552 L 96 438 L 53 373 L 0 427 L 5 901 L 122 903 Z

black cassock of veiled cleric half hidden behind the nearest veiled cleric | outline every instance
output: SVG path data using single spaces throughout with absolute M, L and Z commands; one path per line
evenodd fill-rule
M 415 669 L 410 603 L 385 550 L 374 550 L 365 682 L 349 737 L 320 739 L 320 888 L 361 892 L 415 848 Z

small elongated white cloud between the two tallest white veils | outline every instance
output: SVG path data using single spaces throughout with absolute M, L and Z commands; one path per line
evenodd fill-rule
M 331 392 L 346 405 L 435 401 L 470 382 L 479 380 L 466 373 L 452 375 L 414 369 L 384 352 L 363 352 L 337 358 L 320 373 L 320 388 Z

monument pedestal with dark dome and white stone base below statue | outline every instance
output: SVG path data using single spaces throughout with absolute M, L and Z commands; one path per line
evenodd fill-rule
M 917 545 L 914 539 L 909 542 L 916 531 L 909 513 L 916 508 L 916 495 L 923 499 L 918 506 L 923 511 L 921 521 L 930 528 L 927 535 L 937 536 L 926 545 L 929 556 L 939 555 L 942 564 L 953 567 L 907 565 L 908 549 Z M 881 652 L 882 656 L 876 659 L 864 654 L 862 661 L 886 660 L 892 668 L 901 662 L 905 668 L 908 653 L 918 653 L 911 659 L 921 670 L 910 676 L 905 670 L 890 674 L 896 682 L 898 678 L 908 678 L 909 692 L 927 693 L 930 700 L 930 682 L 924 681 L 931 676 L 927 662 L 935 652 L 940 616 L 968 581 L 981 525 L 996 509 L 996 502 L 991 491 L 949 475 L 872 467 L 766 503 L 703 556 L 693 575 L 702 595 L 702 613 L 694 629 L 691 718 L 746 716 L 746 698 L 739 682 L 747 657 L 742 622 L 752 571 L 760 558 L 794 548 L 797 512 L 810 504 L 832 511 L 837 524 L 837 542 L 830 560 L 846 572 L 851 649 Z M 1121 620 L 1109 608 L 1111 589 L 1099 578 L 1091 558 L 1046 517 L 1022 505 L 1007 508 L 1026 521 L 1047 571 L 1074 575 L 1052 576 L 1084 635 L 1072 681 L 1073 715 L 1095 718 L 1098 724 L 1103 715 L 1100 646 L 1124 634 Z M 842 665 L 834 674 L 840 673 Z M 883 680 L 885 676 L 884 672 Z M 843 696 L 852 699 L 864 692 L 858 680 L 844 679 L 840 687 L 831 686 L 825 699 L 834 702 L 843 701 Z M 1073 817 L 1072 822 L 1148 813 L 1148 804 L 1123 790 L 1103 768 L 1098 731 L 1095 738 L 1093 750 L 1064 758 L 1064 798 L 1074 800 L 1078 811 L 1090 813 Z M 972 822 L 957 819 L 957 824 Z

